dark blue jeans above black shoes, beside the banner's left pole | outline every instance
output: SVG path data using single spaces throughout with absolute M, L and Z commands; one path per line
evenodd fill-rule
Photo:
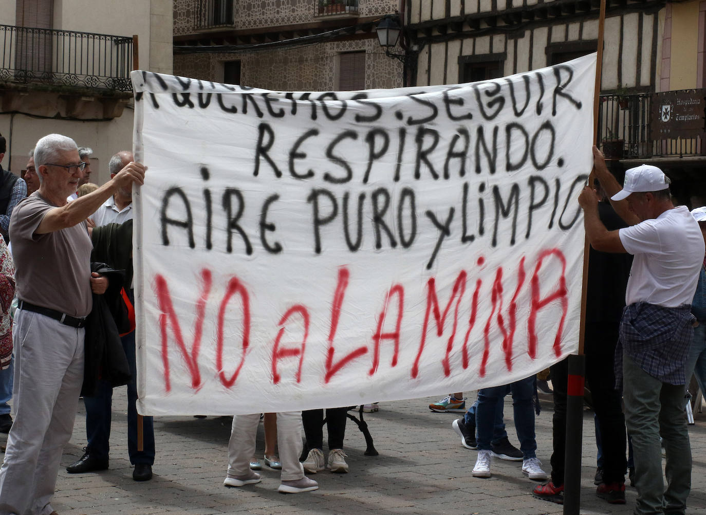
M 137 450 L 137 370 L 135 357 L 135 331 L 120 338 L 130 364 L 132 377 L 128 386 L 128 456 L 130 463 L 155 463 L 155 430 L 152 417 L 143 417 L 143 450 Z M 86 407 L 86 451 L 98 458 L 108 458 L 110 449 L 110 421 L 112 415 L 113 389 L 107 381 L 98 381 L 95 397 L 84 397 Z

